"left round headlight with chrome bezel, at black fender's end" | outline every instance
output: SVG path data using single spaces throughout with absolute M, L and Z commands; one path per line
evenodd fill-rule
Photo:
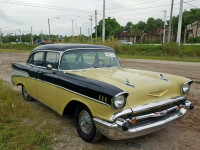
M 112 108 L 115 110 L 124 108 L 124 106 L 126 105 L 126 100 L 127 100 L 128 95 L 129 95 L 128 92 L 121 92 L 121 93 L 115 95 L 111 100 Z M 123 100 L 123 103 L 121 105 L 119 103 L 120 99 Z M 117 106 L 117 101 L 118 101 L 118 106 Z

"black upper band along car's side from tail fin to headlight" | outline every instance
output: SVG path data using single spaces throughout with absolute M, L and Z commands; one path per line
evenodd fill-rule
M 14 69 L 27 72 L 32 78 L 38 79 L 39 77 L 42 81 L 52 83 L 96 100 L 99 100 L 99 96 L 106 97 L 106 100 L 103 102 L 107 104 L 111 104 L 111 99 L 118 93 L 123 92 L 123 90 L 110 84 L 70 73 L 63 73 L 60 71 L 38 72 L 39 69 L 37 67 L 26 64 L 16 63 L 12 64 L 12 66 Z M 40 74 L 39 76 L 38 73 Z

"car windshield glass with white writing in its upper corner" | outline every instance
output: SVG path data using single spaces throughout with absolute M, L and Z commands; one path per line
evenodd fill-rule
M 66 51 L 60 62 L 61 70 L 120 67 L 113 50 L 71 50 Z

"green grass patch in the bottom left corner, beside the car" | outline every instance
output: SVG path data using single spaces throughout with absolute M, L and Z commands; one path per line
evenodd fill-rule
M 51 128 L 32 120 L 34 109 L 21 94 L 0 80 L 0 149 L 51 149 Z M 35 110 L 37 111 L 37 110 Z M 40 115 L 40 121 L 45 117 Z M 41 125 L 40 125 L 41 124 Z M 42 130 L 41 130 L 42 129 Z

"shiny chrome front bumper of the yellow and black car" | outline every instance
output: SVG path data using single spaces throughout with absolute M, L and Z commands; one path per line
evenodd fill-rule
M 185 105 L 182 105 L 183 107 L 181 107 L 181 109 L 177 109 L 173 115 L 169 115 L 168 117 L 164 117 L 158 121 L 148 122 L 138 126 L 129 126 L 126 124 L 126 120 L 120 118 L 116 118 L 113 122 L 94 118 L 94 122 L 97 130 L 109 139 L 130 139 L 155 132 L 164 128 L 171 122 L 179 120 L 186 114 L 187 108 L 189 108 L 190 105 L 192 105 L 191 102 L 186 101 Z M 150 118 L 152 117 L 151 115 L 149 116 Z M 124 125 L 126 125 L 126 129 L 124 129 Z

